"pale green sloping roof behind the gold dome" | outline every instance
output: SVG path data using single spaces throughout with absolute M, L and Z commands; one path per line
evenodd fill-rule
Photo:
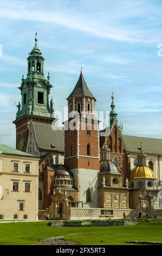
M 144 153 L 162 155 L 162 139 L 122 135 L 128 152 L 139 153 L 142 141 Z

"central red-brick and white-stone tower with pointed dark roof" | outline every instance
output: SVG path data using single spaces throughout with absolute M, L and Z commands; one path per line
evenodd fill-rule
M 95 97 L 90 93 L 82 71 L 67 101 L 69 116 L 64 122 L 64 164 L 74 175 L 79 200 L 86 207 L 96 207 L 100 169 L 99 120 L 94 115 Z

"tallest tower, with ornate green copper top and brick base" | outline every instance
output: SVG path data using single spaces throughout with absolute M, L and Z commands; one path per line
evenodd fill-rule
M 47 78 L 44 77 L 44 58 L 37 46 L 37 38 L 35 38 L 35 46 L 29 52 L 27 60 L 27 77 L 22 76 L 21 86 L 18 87 L 22 100 L 21 103 L 18 102 L 16 119 L 13 121 L 16 125 L 16 149 L 22 151 L 26 151 L 27 148 L 31 121 L 51 124 L 54 120 L 52 98 L 49 104 L 50 89 L 53 86 L 50 84 L 49 73 Z

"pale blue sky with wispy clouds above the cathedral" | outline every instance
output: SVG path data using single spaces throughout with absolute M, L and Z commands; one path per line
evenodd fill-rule
M 161 11 L 160 0 L 1 0 L 0 143 L 15 147 L 17 87 L 36 31 L 55 110 L 67 105 L 82 65 L 96 110 L 109 110 L 113 86 L 125 134 L 162 138 Z

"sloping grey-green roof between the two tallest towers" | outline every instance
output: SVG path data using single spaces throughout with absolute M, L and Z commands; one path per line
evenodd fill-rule
M 38 148 L 64 152 L 64 130 L 53 130 L 51 124 L 32 122 Z

